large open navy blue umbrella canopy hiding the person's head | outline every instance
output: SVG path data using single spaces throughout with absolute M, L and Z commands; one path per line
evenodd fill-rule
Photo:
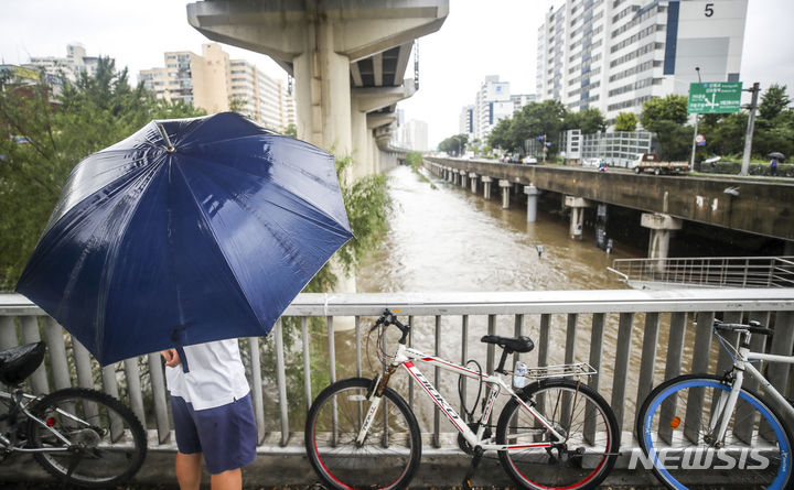
M 83 160 L 17 291 L 105 366 L 265 336 L 353 237 L 333 156 L 226 112 Z

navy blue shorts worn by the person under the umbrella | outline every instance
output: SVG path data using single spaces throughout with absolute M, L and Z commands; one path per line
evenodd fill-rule
M 183 398 L 171 396 L 171 410 L 180 453 L 204 453 L 211 475 L 254 462 L 257 427 L 250 393 L 227 405 L 206 410 L 193 410 L 193 404 Z

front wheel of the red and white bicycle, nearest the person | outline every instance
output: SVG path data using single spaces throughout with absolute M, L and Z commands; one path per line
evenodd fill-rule
M 408 403 L 387 388 L 362 444 L 372 380 L 351 378 L 323 390 L 309 410 L 305 447 L 314 470 L 336 489 L 403 488 L 421 458 L 419 424 Z

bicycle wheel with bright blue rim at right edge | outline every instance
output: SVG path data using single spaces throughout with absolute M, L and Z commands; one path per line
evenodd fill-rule
M 721 411 L 731 385 L 709 374 L 673 378 L 645 399 L 637 439 L 668 488 L 784 489 L 792 483 L 792 437 L 777 412 L 742 389 L 732 413 Z M 728 416 L 722 439 L 717 428 Z

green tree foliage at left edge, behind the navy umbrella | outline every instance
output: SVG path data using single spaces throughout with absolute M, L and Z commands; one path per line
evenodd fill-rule
M 127 70 L 117 72 L 109 58 L 99 59 L 95 75 L 67 83 L 57 97 L 43 83 L 0 79 L 0 288 L 17 283 L 82 159 L 152 119 L 202 113 L 185 104 L 158 101 L 142 85 L 130 87 Z

